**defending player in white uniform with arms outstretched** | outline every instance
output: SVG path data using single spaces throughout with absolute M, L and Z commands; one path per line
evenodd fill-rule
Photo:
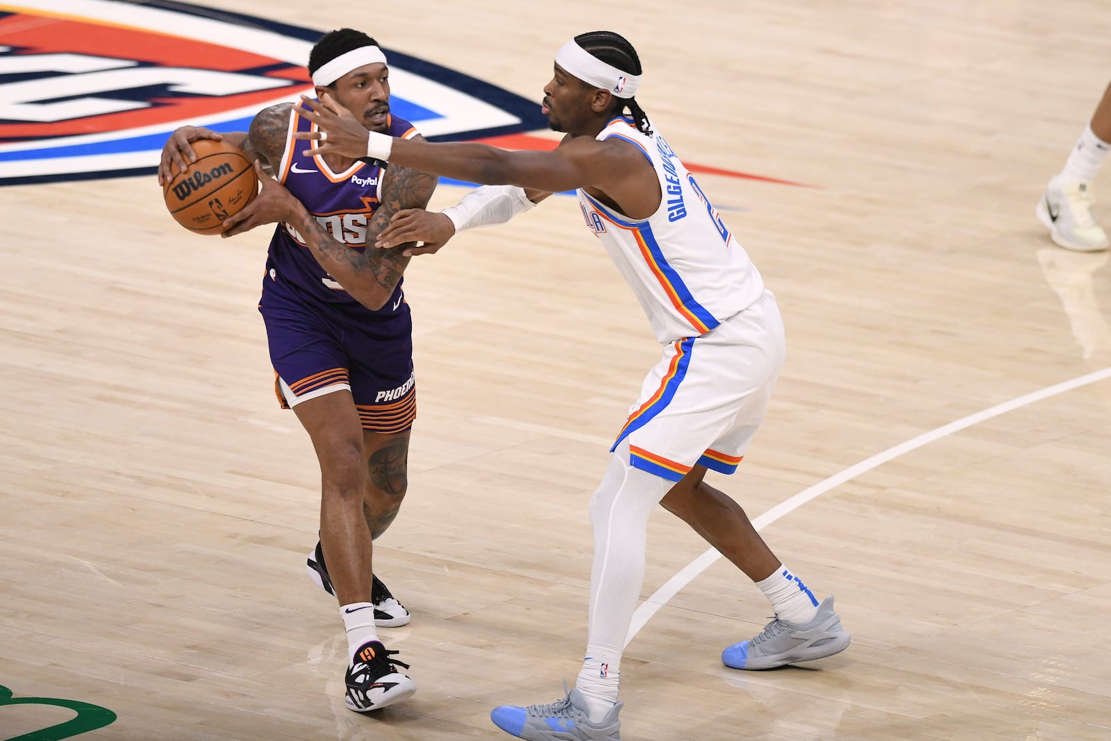
M 584 33 L 560 49 L 543 112 L 567 132 L 553 152 L 473 143 L 402 141 L 360 126 L 324 99 L 300 106 L 318 132 L 314 152 L 370 156 L 479 183 L 444 213 L 400 212 L 378 245 L 423 241 L 433 252 L 456 231 L 502 223 L 553 192 L 577 190 L 599 237 L 648 314 L 663 356 L 613 445 L 590 505 L 594 528 L 587 659 L 557 702 L 491 713 L 524 739 L 620 738 L 621 653 L 644 576 L 645 530 L 657 504 L 685 520 L 768 596 L 775 619 L 727 648 L 737 669 L 831 656 L 849 644 L 819 601 L 753 529 L 741 507 L 705 484 L 731 474 L 760 426 L 783 363 L 783 325 L 760 273 L 633 95 L 640 61 L 623 38 Z M 625 115 L 625 110 L 630 115 Z M 524 190 L 528 189 L 528 190 Z

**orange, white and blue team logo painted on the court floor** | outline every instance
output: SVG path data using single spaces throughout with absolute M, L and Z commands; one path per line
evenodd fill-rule
M 184 123 L 243 131 L 312 91 L 322 31 L 167 0 L 0 4 L 0 185 L 154 172 Z M 547 129 L 540 106 L 386 49 L 391 110 L 433 141 Z

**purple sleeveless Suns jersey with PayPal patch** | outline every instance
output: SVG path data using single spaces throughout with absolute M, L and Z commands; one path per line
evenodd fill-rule
M 332 172 L 322 156 L 306 154 L 314 142 L 293 139 L 297 131 L 317 131 L 317 126 L 293 110 L 286 135 L 286 153 L 277 172 L 278 182 L 304 204 L 332 238 L 361 252 L 367 223 L 378 209 L 383 169 L 359 161 L 343 172 Z M 388 133 L 411 139 L 417 130 L 408 121 L 391 115 Z M 382 318 L 409 311 L 402 301 L 400 281 L 382 308 L 372 312 L 363 307 L 317 262 L 304 238 L 289 224 L 278 224 L 274 230 L 267 274 L 274 281 L 294 285 L 310 301 L 327 302 L 337 308 L 352 308 L 356 313 L 366 312 Z

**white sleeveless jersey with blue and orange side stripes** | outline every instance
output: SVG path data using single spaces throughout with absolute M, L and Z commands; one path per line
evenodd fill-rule
M 660 179 L 660 207 L 643 221 L 579 190 L 587 226 L 640 301 L 655 338 L 670 343 L 710 332 L 763 294 L 760 272 L 664 139 L 615 118 L 598 140 L 622 139 L 648 158 Z

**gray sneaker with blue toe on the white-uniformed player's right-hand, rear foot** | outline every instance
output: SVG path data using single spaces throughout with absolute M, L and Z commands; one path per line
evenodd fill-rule
M 774 669 L 799 661 L 824 659 L 843 651 L 852 638 L 827 597 L 808 623 L 772 620 L 749 641 L 733 643 L 721 652 L 721 662 L 732 669 Z

